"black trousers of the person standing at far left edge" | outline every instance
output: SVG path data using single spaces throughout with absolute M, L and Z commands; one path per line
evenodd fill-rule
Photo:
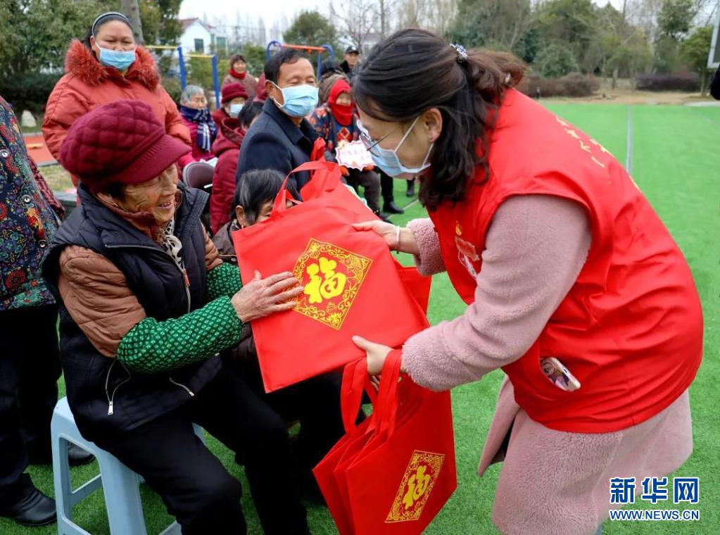
M 58 402 L 58 309 L 0 313 L 0 505 L 29 487 L 30 457 L 50 459 L 50 420 Z

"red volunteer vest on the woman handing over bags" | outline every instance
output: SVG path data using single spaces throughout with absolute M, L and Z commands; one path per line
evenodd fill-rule
M 683 254 L 624 168 L 595 140 L 512 89 L 490 138 L 490 178 L 431 219 L 456 291 L 474 302 L 485 234 L 514 195 L 556 195 L 588 212 L 592 244 L 575 285 L 531 349 L 503 368 L 515 399 L 558 431 L 607 433 L 660 413 L 693 381 L 702 357 L 698 292 Z M 482 177 L 482 171 L 477 178 Z M 540 360 L 581 383 L 566 392 Z

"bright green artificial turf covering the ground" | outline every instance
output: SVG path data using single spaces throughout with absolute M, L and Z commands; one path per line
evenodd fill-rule
M 718 437 L 720 418 L 717 410 L 720 384 L 718 346 L 720 345 L 720 273 L 718 270 L 720 220 L 718 199 L 720 185 L 716 171 L 718 139 L 720 138 L 720 109 L 672 106 L 625 106 L 606 104 L 550 104 L 549 107 L 574 123 L 611 150 L 622 163 L 626 162 L 626 128 L 632 122 L 632 175 L 649 198 L 653 207 L 670 228 L 670 232 L 690 262 L 705 311 L 705 359 L 698 378 L 690 389 L 693 410 L 695 451 L 675 475 L 698 476 L 701 479 L 701 521 L 680 522 L 610 522 L 603 526 L 606 534 L 716 534 L 720 515 L 720 462 Z M 531 140 L 528 140 L 531 143 Z M 713 178 L 715 177 L 715 178 Z M 405 204 L 405 184 L 396 183 L 396 202 Z M 418 204 L 406 214 L 395 217 L 402 224 L 424 211 Z M 405 263 L 410 258 L 403 258 Z M 432 323 L 454 318 L 464 305 L 452 289 L 446 276 L 433 280 L 430 319 Z M 495 483 L 500 465 L 490 468 L 485 477 L 476 474 L 482 442 L 490 425 L 495 396 L 502 380 L 502 372 L 493 372 L 482 381 L 464 385 L 453 392 L 456 454 L 459 487 L 444 510 L 426 533 L 431 535 L 495 534 L 490 521 Z M 64 390 L 61 385 L 61 390 Z M 251 534 L 260 534 L 259 523 L 247 492 L 243 469 L 233 462 L 230 451 L 208 437 L 210 449 L 226 467 L 240 478 L 246 490 L 243 509 L 248 517 Z M 79 484 L 97 472 L 96 464 L 72 470 Z M 35 483 L 45 493 L 53 495 L 52 471 L 49 467 L 31 467 Z M 158 533 L 171 518 L 161 500 L 143 488 L 145 518 L 148 533 Z M 642 508 L 643 503 L 634 507 Z M 657 508 L 673 505 L 660 503 Z M 336 534 L 325 508 L 308 508 L 310 526 L 314 534 Z M 96 493 L 76 508 L 76 518 L 92 533 L 107 534 L 107 518 L 102 493 Z M 713 527 L 715 526 L 715 527 Z M 2 534 L 52 534 L 55 526 L 42 529 L 21 529 L 0 520 Z M 528 534 L 531 535 L 531 534 Z

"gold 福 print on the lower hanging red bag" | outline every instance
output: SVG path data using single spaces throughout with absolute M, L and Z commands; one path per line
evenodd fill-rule
M 418 520 L 445 460 L 444 454 L 413 451 L 385 523 Z

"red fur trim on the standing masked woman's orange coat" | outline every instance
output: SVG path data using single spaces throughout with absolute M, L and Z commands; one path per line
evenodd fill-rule
M 65 71 L 92 86 L 108 79 L 122 78 L 120 71 L 114 67 L 103 66 L 91 50 L 76 39 L 70 43 L 65 56 Z M 154 90 L 160 83 L 160 75 L 153 55 L 141 46 L 135 48 L 135 63 L 132 63 L 127 70 L 125 78 L 138 81 L 148 89 Z

